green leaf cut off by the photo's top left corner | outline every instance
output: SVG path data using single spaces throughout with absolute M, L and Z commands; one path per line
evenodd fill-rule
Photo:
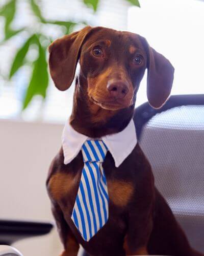
M 6 19 L 5 22 L 5 31 L 9 28 L 16 12 L 16 0 L 11 0 L 8 4 L 4 5 L 0 10 L 0 16 L 4 16 Z

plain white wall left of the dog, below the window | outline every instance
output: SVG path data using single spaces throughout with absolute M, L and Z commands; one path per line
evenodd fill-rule
M 45 180 L 63 125 L 0 120 L 0 219 L 53 221 Z M 56 256 L 56 230 L 14 244 L 24 256 Z

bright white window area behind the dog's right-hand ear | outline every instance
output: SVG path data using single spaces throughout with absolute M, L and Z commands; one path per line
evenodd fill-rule
M 140 0 L 131 7 L 128 30 L 144 36 L 175 68 L 171 94 L 204 92 L 204 2 L 196 0 Z M 147 101 L 144 78 L 137 105 Z

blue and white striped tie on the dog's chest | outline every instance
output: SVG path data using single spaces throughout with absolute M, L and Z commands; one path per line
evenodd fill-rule
M 82 146 L 84 167 L 71 219 L 85 241 L 108 220 L 108 189 L 102 167 L 107 151 L 101 140 L 87 140 Z

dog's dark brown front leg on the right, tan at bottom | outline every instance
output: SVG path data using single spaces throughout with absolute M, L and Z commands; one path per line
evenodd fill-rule
M 128 228 L 124 239 L 126 255 L 148 255 L 154 205 L 154 179 L 147 176 L 145 182 L 136 184 L 135 195 L 129 205 Z

